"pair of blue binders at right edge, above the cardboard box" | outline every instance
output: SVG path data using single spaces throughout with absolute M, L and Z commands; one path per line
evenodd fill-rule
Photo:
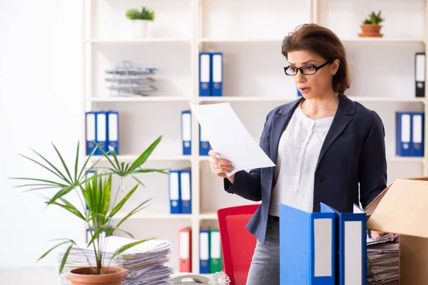
M 398 156 L 424 156 L 424 113 L 397 112 L 395 154 Z

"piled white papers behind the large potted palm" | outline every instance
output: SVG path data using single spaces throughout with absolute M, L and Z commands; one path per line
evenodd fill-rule
M 116 249 L 123 247 L 126 244 L 136 242 L 134 239 L 126 239 L 124 237 L 106 237 L 106 250 L 104 266 L 118 266 L 128 272 L 128 278 L 123 280 L 123 285 L 167 285 L 173 269 L 165 266 L 170 260 L 169 254 L 172 249 L 172 244 L 165 240 L 153 239 L 148 242 L 138 244 L 131 249 L 119 254 L 114 259 L 111 259 Z M 63 259 L 66 248 L 58 254 L 57 272 Z M 93 246 L 86 248 L 73 247 L 68 254 L 66 265 L 63 273 L 60 274 L 60 284 L 71 285 L 71 282 L 66 279 L 66 272 L 79 267 L 87 267 L 88 260 L 92 266 L 95 266 L 95 255 L 93 254 Z

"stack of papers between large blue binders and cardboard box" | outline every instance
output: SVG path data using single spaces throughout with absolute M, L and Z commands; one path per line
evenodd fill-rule
M 399 244 L 367 244 L 367 284 L 397 285 L 399 280 Z

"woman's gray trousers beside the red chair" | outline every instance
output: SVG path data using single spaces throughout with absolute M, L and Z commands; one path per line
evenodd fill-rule
M 266 243 L 257 240 L 247 285 L 280 284 L 280 222 L 268 219 Z M 239 284 L 238 284 L 239 285 Z

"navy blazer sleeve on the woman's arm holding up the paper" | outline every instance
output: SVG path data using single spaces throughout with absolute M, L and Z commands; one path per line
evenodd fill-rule
M 272 112 L 270 112 L 272 113 Z M 270 131 L 270 125 L 267 121 L 270 118 L 270 113 L 267 115 L 265 125 L 263 126 L 263 132 L 260 136 L 260 147 L 263 148 L 262 141 L 263 136 Z M 244 199 L 251 201 L 261 201 L 262 199 L 262 185 L 260 179 L 260 168 L 254 168 L 250 172 L 241 170 L 235 173 L 235 179 L 233 184 L 227 178 L 223 179 L 223 184 L 226 192 L 239 195 Z

